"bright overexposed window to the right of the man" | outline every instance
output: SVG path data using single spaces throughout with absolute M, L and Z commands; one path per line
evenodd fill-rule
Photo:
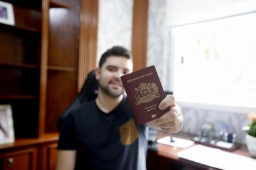
M 172 28 L 177 101 L 256 108 L 256 14 Z

